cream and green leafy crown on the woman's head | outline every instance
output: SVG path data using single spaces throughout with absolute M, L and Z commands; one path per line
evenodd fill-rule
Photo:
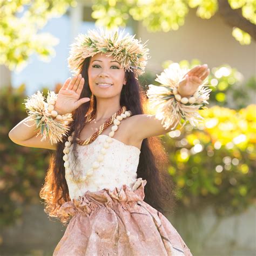
M 71 72 L 78 73 L 85 58 L 102 52 L 108 53 L 108 57 L 113 56 L 125 71 L 134 72 L 136 77 L 142 75 L 149 59 L 149 49 L 145 48 L 145 43 L 134 39 L 135 35 L 124 35 L 124 32 L 99 29 L 89 30 L 87 35 L 80 33 L 75 38 L 75 43 L 70 45 L 68 62 Z

